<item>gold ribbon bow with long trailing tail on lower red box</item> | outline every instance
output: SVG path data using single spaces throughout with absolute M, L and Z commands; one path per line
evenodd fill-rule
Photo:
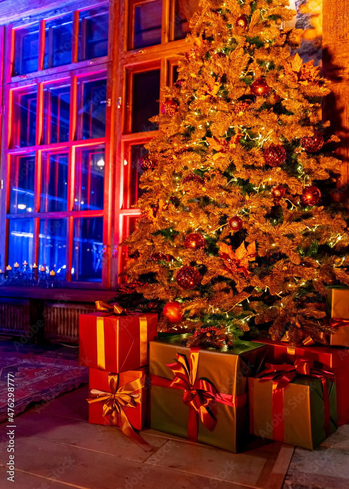
M 124 412 L 125 407 L 136 407 L 141 404 L 141 393 L 139 391 L 145 385 L 145 375 L 143 374 L 141 378 L 128 382 L 119 388 L 118 375 L 109 374 L 108 382 L 111 392 L 91 389 L 89 391 L 90 398 L 87 399 L 87 402 L 89 404 L 93 402 L 104 402 L 103 416 L 110 415 L 110 424 L 117 426 L 120 420 L 120 427 L 128 438 L 137 443 L 137 445 L 140 445 L 145 451 L 151 450 L 152 446 L 138 435 Z

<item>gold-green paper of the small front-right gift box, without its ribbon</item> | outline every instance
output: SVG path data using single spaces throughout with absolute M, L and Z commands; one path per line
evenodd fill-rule
M 337 429 L 337 401 L 335 383 L 327 379 L 330 434 Z M 284 389 L 284 410 L 273 413 L 273 381 L 248 379 L 250 433 L 262 438 L 284 442 L 313 450 L 326 438 L 325 403 L 322 381 L 310 376 L 296 377 Z M 275 428 L 284 422 L 283 437 Z

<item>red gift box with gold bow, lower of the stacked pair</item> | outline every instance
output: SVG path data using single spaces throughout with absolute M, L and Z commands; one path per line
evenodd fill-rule
M 126 436 L 147 449 L 148 444 L 134 431 L 142 430 L 146 423 L 147 375 L 147 367 L 120 374 L 90 368 L 88 422 L 121 427 Z

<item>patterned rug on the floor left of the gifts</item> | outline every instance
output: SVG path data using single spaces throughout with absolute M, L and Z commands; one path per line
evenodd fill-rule
M 78 348 L 21 345 L 0 340 L 0 422 L 7 419 L 7 379 L 15 384 L 14 414 L 32 403 L 50 400 L 88 382 L 88 368 L 79 366 Z

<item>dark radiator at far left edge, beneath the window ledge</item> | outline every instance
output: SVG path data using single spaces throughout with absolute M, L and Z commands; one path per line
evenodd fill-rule
M 30 324 L 29 314 L 29 300 L 0 298 L 0 333 L 27 333 Z

